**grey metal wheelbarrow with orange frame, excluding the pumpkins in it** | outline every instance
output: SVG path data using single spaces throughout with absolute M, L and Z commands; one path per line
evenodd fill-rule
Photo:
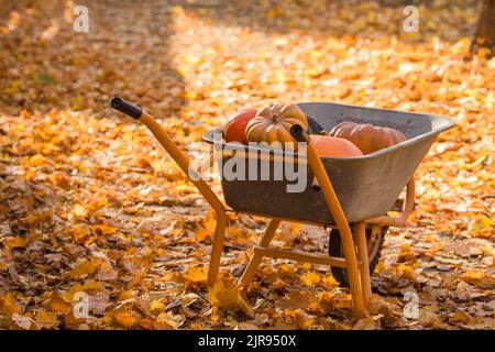
M 249 165 L 252 165 L 248 163 L 244 168 L 246 177 L 231 179 L 222 174 L 224 205 L 201 178 L 201 170 L 191 164 L 152 116 L 118 97 L 111 100 L 111 106 L 144 123 L 215 209 L 217 226 L 212 237 L 209 286 L 217 280 L 228 212 L 253 215 L 267 218 L 270 222 L 260 243 L 253 248 L 254 254 L 238 283 L 239 287 L 251 282 L 264 256 L 330 265 L 336 278 L 349 285 L 358 316 L 364 316 L 367 311 L 372 296 L 370 273 L 380 257 L 386 230 L 388 227 L 409 224 L 407 218 L 415 200 L 415 169 L 435 139 L 454 125 L 448 118 L 426 113 L 330 102 L 298 103 L 327 131 L 340 122 L 354 121 L 394 128 L 406 136 L 402 143 L 354 157 L 320 157 L 310 135 L 297 124 L 292 127 L 290 134 L 305 145 L 301 151 L 226 143 L 221 139 L 221 129 L 209 131 L 204 135 L 204 141 L 213 144 L 213 152 L 197 165 L 210 167 L 215 162 L 224 164 L 241 157 L 241 163 L 256 158 L 267 162 L 270 169 L 275 169 L 277 163 L 293 161 L 298 167 L 305 167 L 307 179 L 312 180 L 301 191 L 288 193 L 287 187 L 293 180 L 284 177 L 277 180 L 253 179 L 248 177 Z M 402 213 L 389 217 L 387 213 L 405 187 Z M 330 228 L 330 255 L 270 246 L 282 221 Z

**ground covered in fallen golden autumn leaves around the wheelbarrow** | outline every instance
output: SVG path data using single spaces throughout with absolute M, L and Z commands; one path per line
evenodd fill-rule
M 70 1 L 0 9 L 0 327 L 3 329 L 494 329 L 495 59 L 469 55 L 477 1 Z M 447 116 L 418 168 L 416 227 L 387 233 L 372 316 L 329 268 L 264 261 L 240 293 L 263 219 L 231 216 L 208 290 L 215 219 L 113 95 L 186 147 L 241 107 L 340 101 Z M 218 182 L 215 189 L 220 194 Z M 324 252 L 284 223 L 275 244 Z M 407 318 L 405 295 L 418 296 Z M 87 318 L 74 304 L 86 293 Z

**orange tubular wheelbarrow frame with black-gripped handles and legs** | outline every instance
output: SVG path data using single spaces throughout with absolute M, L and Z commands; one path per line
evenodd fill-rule
M 217 197 L 213 190 L 208 186 L 208 184 L 201 179 L 200 174 L 196 172 L 193 167 L 190 161 L 186 155 L 179 150 L 179 147 L 170 140 L 165 130 L 156 122 L 156 120 L 147 112 L 145 112 L 140 107 L 122 99 L 113 98 L 111 100 L 112 108 L 128 114 L 129 117 L 142 122 L 158 140 L 166 152 L 172 156 L 172 158 L 177 163 L 180 169 L 186 174 L 189 180 L 198 188 L 199 193 L 205 197 L 205 199 L 210 204 L 216 212 L 216 229 L 212 238 L 212 249 L 210 256 L 210 265 L 208 271 L 208 286 L 213 286 L 219 268 L 221 253 L 224 242 L 224 232 L 228 221 L 228 212 L 234 211 L 226 207 L 222 201 Z M 406 201 L 404 202 L 404 209 L 398 218 L 391 218 L 388 216 L 370 219 L 365 221 L 356 222 L 354 226 L 354 237 L 352 234 L 345 213 L 342 210 L 341 204 L 336 195 L 332 183 L 324 169 L 324 166 L 316 151 L 309 135 L 299 127 L 294 125 L 290 129 L 290 133 L 298 142 L 306 142 L 306 158 L 307 163 L 311 167 L 318 184 L 321 187 L 327 206 L 336 221 L 336 228 L 340 231 L 342 238 L 342 248 L 344 253 L 344 258 L 328 256 L 328 255 L 317 255 L 311 253 L 305 253 L 300 251 L 283 251 L 278 249 L 271 248 L 270 244 L 275 235 L 275 232 L 282 221 L 296 222 L 293 219 L 279 219 L 279 218 L 268 218 L 270 223 L 263 234 L 260 243 L 253 248 L 254 255 L 251 257 L 244 273 L 242 274 L 238 286 L 243 287 L 248 285 L 258 267 L 262 258 L 264 256 L 288 258 L 300 262 L 308 262 L 315 264 L 327 264 L 330 266 L 339 266 L 345 268 L 349 276 L 349 286 L 353 301 L 354 312 L 358 317 L 363 317 L 367 314 L 367 308 L 370 299 L 372 297 L 371 288 L 371 273 L 367 256 L 367 244 L 365 227 L 366 223 L 374 227 L 404 227 L 408 224 L 407 218 L 414 208 L 415 198 L 415 183 L 414 178 L 407 184 Z M 221 153 L 210 154 L 201 165 L 212 166 L 215 161 L 219 157 Z M 194 176 L 194 177 L 190 177 Z M 315 223 L 321 226 L 320 223 Z M 355 243 L 354 243 L 355 239 Z

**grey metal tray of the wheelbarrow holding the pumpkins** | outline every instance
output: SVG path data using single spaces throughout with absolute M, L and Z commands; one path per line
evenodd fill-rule
M 349 222 L 386 215 L 437 135 L 453 127 L 453 122 L 447 118 L 425 113 L 330 102 L 304 102 L 298 106 L 327 131 L 343 121 L 353 121 L 393 128 L 406 136 L 406 141 L 399 144 L 364 156 L 322 157 Z M 204 140 L 213 143 L 215 133 L 221 131 L 207 132 Z M 254 151 L 253 147 L 240 145 L 232 148 L 243 148 L 246 153 Z M 231 157 L 235 156 L 227 155 L 222 162 Z M 275 167 L 274 163 L 271 162 L 271 170 Z M 245 180 L 222 178 L 226 202 L 233 210 L 300 222 L 334 224 L 323 195 L 314 190 L 311 182 L 307 183 L 302 193 L 287 193 L 286 187 L 290 182 L 249 180 L 249 164 L 245 166 Z M 309 166 L 307 168 L 308 180 L 311 180 L 312 170 Z

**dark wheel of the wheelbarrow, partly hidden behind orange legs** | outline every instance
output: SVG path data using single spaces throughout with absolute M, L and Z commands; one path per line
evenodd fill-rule
M 354 232 L 354 224 L 351 224 L 351 230 Z M 367 256 L 370 260 L 370 273 L 373 274 L 376 264 L 380 261 L 380 254 L 382 252 L 383 241 L 385 240 L 385 233 L 388 231 L 388 227 L 382 228 L 374 238 L 372 238 L 372 229 L 366 228 L 366 242 L 367 242 Z M 344 257 L 342 249 L 342 240 L 340 231 L 338 229 L 330 230 L 330 244 L 328 252 L 330 256 Z M 333 278 L 340 286 L 349 287 L 348 271 L 343 267 L 331 267 Z

